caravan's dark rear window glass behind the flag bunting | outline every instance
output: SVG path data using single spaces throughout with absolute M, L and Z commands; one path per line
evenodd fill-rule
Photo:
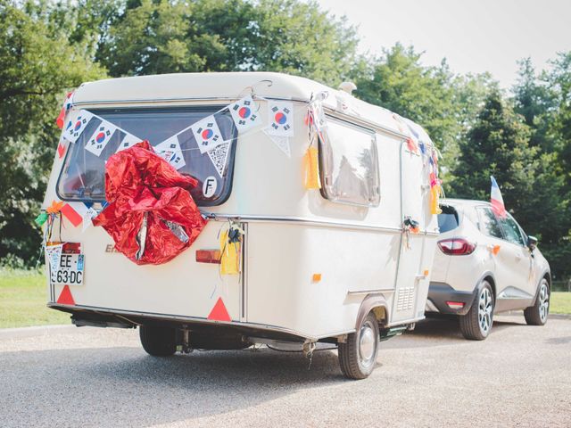
M 70 144 L 58 180 L 57 191 L 64 201 L 103 202 L 105 200 L 105 162 L 119 148 L 127 131 L 137 139 L 148 140 L 153 146 L 161 144 L 170 136 L 178 134 L 194 122 L 203 119 L 219 109 L 177 108 L 177 109 L 113 109 L 89 110 L 96 116 L 75 144 Z M 90 136 L 101 124 L 103 118 L 120 128 L 104 147 L 99 156 L 85 149 Z M 228 111 L 215 115 L 222 138 L 228 141 L 226 159 L 212 153 L 201 153 L 190 129 L 178 135 L 185 165 L 178 169 L 182 174 L 198 180 L 192 190 L 194 201 L 199 205 L 218 205 L 228 199 L 232 187 L 234 155 L 236 152 L 237 131 Z M 223 151 L 224 152 L 224 151 Z M 224 153 L 226 153 L 224 152 Z M 208 186 L 203 185 L 208 182 Z M 203 193 L 203 187 L 204 192 Z M 213 190 L 214 189 L 214 190 Z

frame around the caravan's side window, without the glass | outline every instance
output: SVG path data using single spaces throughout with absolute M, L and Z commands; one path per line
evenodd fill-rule
M 374 129 L 366 128 L 355 124 L 351 121 L 341 119 L 335 116 L 331 116 L 329 114 L 326 115 L 327 118 L 327 128 L 322 133 L 324 138 L 328 141 L 322 141 L 319 138 L 319 179 L 321 180 L 321 195 L 327 199 L 327 201 L 335 202 L 344 205 L 352 205 L 357 207 L 366 207 L 366 208 L 376 208 L 381 203 L 381 180 L 380 180 L 380 162 L 378 159 L 378 147 L 377 147 L 377 132 Z M 335 179 L 335 171 L 329 171 L 330 168 L 329 163 L 327 162 L 327 151 L 335 152 L 335 148 L 331 145 L 332 140 L 330 139 L 329 132 L 330 128 L 329 125 L 331 123 L 340 125 L 345 128 L 350 128 L 352 130 L 361 132 L 362 134 L 366 134 L 370 138 L 370 147 L 372 154 L 372 159 L 374 163 L 374 184 L 372 188 L 374 189 L 373 193 L 369 194 L 368 202 L 355 202 L 354 200 L 350 200 L 350 198 L 343 198 L 339 197 L 339 195 L 335 193 L 331 193 L 330 185 L 327 185 L 327 178 L 331 177 L 331 179 Z M 337 176 L 338 177 L 338 174 Z

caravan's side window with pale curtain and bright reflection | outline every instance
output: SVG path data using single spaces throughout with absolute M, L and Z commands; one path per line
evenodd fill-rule
M 321 193 L 329 201 L 377 207 L 381 201 L 375 132 L 327 118 L 319 141 Z

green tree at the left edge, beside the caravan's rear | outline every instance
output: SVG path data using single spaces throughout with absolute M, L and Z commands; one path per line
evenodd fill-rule
M 65 90 L 103 76 L 51 25 L 43 4 L 0 3 L 0 259 L 34 261 L 40 233 L 33 224 L 46 190 Z M 88 55 L 87 55 L 88 58 Z

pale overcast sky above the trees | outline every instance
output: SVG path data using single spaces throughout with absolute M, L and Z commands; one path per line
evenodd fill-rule
M 490 71 L 503 87 L 517 78 L 517 60 L 536 68 L 571 51 L 571 0 L 318 0 L 359 25 L 361 51 L 380 53 L 396 42 L 443 57 L 458 73 Z

